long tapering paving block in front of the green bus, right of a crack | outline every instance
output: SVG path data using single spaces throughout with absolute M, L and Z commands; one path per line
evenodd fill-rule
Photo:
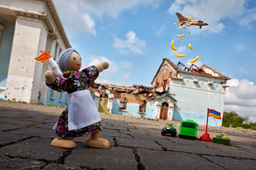
M 228 153 L 221 152 L 219 150 L 214 150 L 211 148 L 207 148 L 201 144 L 180 144 L 173 143 L 171 141 L 161 142 L 160 143 L 164 148 L 168 151 L 176 151 L 176 152 L 187 152 L 187 153 L 196 153 L 196 154 L 207 154 L 207 155 L 222 155 L 222 156 L 231 156 Z

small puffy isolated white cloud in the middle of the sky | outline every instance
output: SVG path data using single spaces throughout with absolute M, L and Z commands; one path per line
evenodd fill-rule
M 121 54 L 142 54 L 146 49 L 146 41 L 140 40 L 136 37 L 136 33 L 129 31 L 126 33 L 127 40 L 121 40 L 115 37 L 113 46 L 119 49 Z

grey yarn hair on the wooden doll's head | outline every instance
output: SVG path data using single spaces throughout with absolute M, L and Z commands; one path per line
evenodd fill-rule
M 76 52 L 78 54 L 77 50 L 68 48 L 61 52 L 58 59 L 56 59 L 56 63 L 59 65 L 62 73 L 68 71 L 68 59 L 70 58 L 72 52 Z

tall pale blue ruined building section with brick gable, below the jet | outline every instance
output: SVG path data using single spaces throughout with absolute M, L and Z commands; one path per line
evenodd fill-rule
M 155 91 L 168 91 L 177 100 L 174 105 L 173 119 L 191 119 L 206 125 L 207 108 L 214 109 L 223 116 L 227 76 L 208 65 L 201 68 L 189 67 L 178 63 L 174 65 L 164 58 L 152 81 Z M 208 118 L 209 126 L 221 126 L 222 119 Z

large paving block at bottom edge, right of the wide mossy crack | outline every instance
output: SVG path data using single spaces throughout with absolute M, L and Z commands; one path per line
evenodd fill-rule
M 146 170 L 223 170 L 222 167 L 192 153 L 137 149 L 137 156 Z

